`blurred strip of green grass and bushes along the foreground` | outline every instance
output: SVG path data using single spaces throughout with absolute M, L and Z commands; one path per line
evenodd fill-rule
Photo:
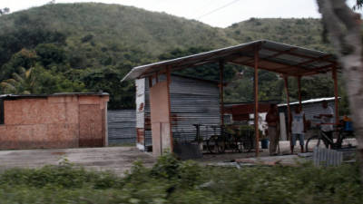
M 0 203 L 363 203 L 358 165 L 201 167 L 161 157 L 124 177 L 64 162 L 0 174 Z

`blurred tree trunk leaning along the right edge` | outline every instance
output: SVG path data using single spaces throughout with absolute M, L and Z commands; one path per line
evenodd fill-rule
M 358 160 L 363 182 L 363 61 L 360 15 L 345 0 L 317 0 L 324 29 L 343 67 L 354 128 L 358 140 Z M 358 5 L 363 0 L 357 1 Z

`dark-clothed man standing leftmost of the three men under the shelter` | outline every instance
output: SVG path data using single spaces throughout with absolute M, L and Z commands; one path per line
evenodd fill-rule
M 280 118 L 278 112 L 278 106 L 276 104 L 270 104 L 269 112 L 266 115 L 266 121 L 269 125 L 269 140 L 270 140 L 270 156 L 277 155 L 276 149 L 280 141 L 280 135 L 278 135 L 278 128 L 280 126 Z

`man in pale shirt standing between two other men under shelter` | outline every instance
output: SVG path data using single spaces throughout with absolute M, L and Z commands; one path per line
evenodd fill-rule
M 304 152 L 304 133 L 305 129 L 305 113 L 301 111 L 301 107 L 297 105 L 295 107 L 295 112 L 292 112 L 292 124 L 291 124 L 291 154 L 294 153 L 294 147 L 296 145 L 296 139 L 299 138 L 299 144 L 301 148 L 301 153 Z

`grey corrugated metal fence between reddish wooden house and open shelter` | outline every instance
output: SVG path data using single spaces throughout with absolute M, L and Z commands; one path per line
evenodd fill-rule
M 134 144 L 136 142 L 135 110 L 115 110 L 107 112 L 109 144 Z

